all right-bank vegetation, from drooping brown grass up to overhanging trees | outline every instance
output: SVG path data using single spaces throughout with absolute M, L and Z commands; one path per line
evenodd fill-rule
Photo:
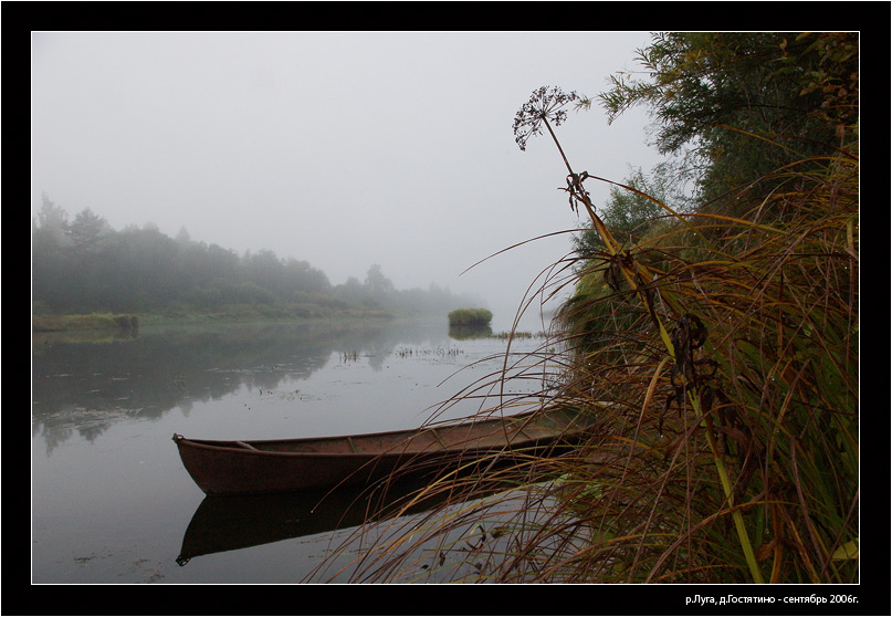
M 518 376 L 542 390 L 480 417 L 531 401 L 597 427 L 565 456 L 468 481 L 444 470 L 409 500 L 444 505 L 382 538 L 356 532 L 356 582 L 861 582 L 859 44 L 653 34 L 644 70 L 595 101 L 609 122 L 648 107 L 676 158 L 622 182 L 571 166 L 559 142 L 567 109 L 592 100 L 533 92 L 517 145 L 557 148 L 557 206 L 588 229 L 529 294 L 568 297 Z M 483 499 L 492 487 L 508 488 Z

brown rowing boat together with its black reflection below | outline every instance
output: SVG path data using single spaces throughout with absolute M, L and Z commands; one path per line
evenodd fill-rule
M 484 490 L 484 470 L 523 468 L 524 461 L 571 450 L 594 421 L 554 408 L 353 437 L 241 442 L 175 435 L 186 469 L 208 494 L 177 563 L 464 501 L 451 483 L 459 478 L 473 487 L 471 499 L 485 496 L 504 485 Z

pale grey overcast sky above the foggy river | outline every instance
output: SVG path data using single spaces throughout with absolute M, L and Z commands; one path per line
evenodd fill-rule
M 333 284 L 379 264 L 512 311 L 570 250 L 566 170 L 512 123 L 543 85 L 595 95 L 647 32 L 32 34 L 32 217 L 49 195 L 116 230 L 305 260 Z M 659 161 L 644 111 L 570 112 L 571 165 L 621 181 Z M 587 184 L 596 205 L 608 187 Z

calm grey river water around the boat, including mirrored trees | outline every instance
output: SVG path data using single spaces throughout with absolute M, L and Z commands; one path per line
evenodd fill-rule
M 511 349 L 522 355 L 542 344 L 515 339 Z M 490 380 L 505 349 L 499 338 L 450 337 L 444 320 L 35 335 L 32 582 L 313 581 L 356 523 L 344 516 L 349 495 L 318 510 L 307 506 L 314 495 L 206 500 L 172 435 L 274 439 L 413 428 L 439 402 Z M 542 386 L 510 381 L 505 394 Z M 463 400 L 440 417 L 494 402 Z

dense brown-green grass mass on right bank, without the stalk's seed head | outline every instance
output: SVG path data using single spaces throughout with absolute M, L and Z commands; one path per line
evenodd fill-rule
M 613 401 L 595 449 L 626 460 L 564 489 L 605 540 L 562 578 L 858 582 L 857 158 L 774 179 L 623 249 L 638 287 L 612 255 L 580 274 L 562 396 Z

